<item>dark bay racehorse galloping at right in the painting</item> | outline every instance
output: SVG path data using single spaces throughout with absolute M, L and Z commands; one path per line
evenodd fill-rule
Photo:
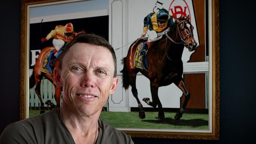
M 174 27 L 170 28 L 163 35 L 163 37 L 151 44 L 147 52 L 148 57 L 148 71 L 134 66 L 134 54 L 137 46 L 145 39 L 138 39 L 129 48 L 128 54 L 122 59 L 124 65 L 122 72 L 123 87 L 128 89 L 132 86 L 132 94 L 136 98 L 139 107 L 139 117 L 145 118 L 145 111 L 138 98 L 136 89 L 136 75 L 141 72 L 150 80 L 150 91 L 152 95 L 152 102 L 149 98 L 143 98 L 148 105 L 152 107 L 158 106 L 158 117 L 164 118 L 162 104 L 158 97 L 158 88 L 161 86 L 170 85 L 174 83 L 180 90 L 182 90 L 185 101 L 174 118 L 179 120 L 185 112 L 187 102 L 190 94 L 184 84 L 182 53 L 184 45 L 189 51 L 196 49 L 197 42 L 193 37 L 193 26 L 189 22 L 189 16 L 186 18 L 175 18 Z

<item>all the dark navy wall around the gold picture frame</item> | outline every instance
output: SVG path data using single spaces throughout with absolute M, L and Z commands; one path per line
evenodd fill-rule
M 134 138 L 136 144 L 255 142 L 255 3 L 220 0 L 220 140 Z M 19 120 L 20 6 L 20 0 L 0 5 L 0 133 Z

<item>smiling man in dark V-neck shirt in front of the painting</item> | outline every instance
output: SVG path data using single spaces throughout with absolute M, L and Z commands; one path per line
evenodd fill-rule
M 79 34 L 63 51 L 54 81 L 63 89 L 61 107 L 10 124 L 0 136 L 1 144 L 134 144 L 129 135 L 99 118 L 119 81 L 108 41 Z

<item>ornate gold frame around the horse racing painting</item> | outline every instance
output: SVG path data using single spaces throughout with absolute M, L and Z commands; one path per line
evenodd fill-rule
M 20 120 L 28 117 L 28 94 L 29 94 L 29 50 L 28 44 L 30 42 L 28 38 L 29 29 L 29 7 L 40 7 L 40 4 L 60 4 L 61 2 L 72 3 L 80 0 L 22 0 L 21 5 L 21 51 L 20 51 Z M 116 0 L 112 0 L 116 1 Z M 117 0 L 118 1 L 118 0 Z M 125 2 L 128 0 L 124 0 Z M 125 3 L 120 1 L 121 4 Z M 158 1 L 158 0 L 156 0 Z M 125 133 L 131 135 L 131 137 L 137 138 L 175 138 L 175 139 L 203 139 L 203 140 L 219 140 L 219 0 L 206 0 L 208 2 L 209 24 L 211 25 L 211 33 L 208 33 L 209 44 L 212 50 L 212 101 L 211 101 L 211 132 L 177 132 L 177 131 L 139 131 L 139 130 L 123 130 Z M 109 2 L 111 6 L 111 2 Z M 112 11 L 109 11 L 111 13 Z M 110 24 L 111 25 L 111 24 Z M 112 33 L 111 33 L 112 35 Z M 110 36 L 111 37 L 111 36 Z M 113 40 L 113 37 L 111 37 Z M 110 40 L 109 40 L 110 41 Z M 115 47 L 114 47 L 115 48 Z M 120 85 L 120 84 L 119 84 Z

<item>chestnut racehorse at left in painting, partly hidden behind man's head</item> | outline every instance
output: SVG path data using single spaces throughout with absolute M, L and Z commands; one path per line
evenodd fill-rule
M 30 83 L 29 83 L 30 89 L 35 85 L 35 93 L 37 94 L 37 96 L 40 100 L 40 109 L 41 109 L 40 114 L 45 113 L 45 107 L 44 107 L 44 103 L 43 103 L 43 100 L 41 97 L 41 92 L 40 92 L 40 85 L 41 85 L 41 80 L 43 77 L 47 78 L 50 82 L 52 82 L 55 87 L 54 98 L 56 100 L 56 105 L 54 105 L 52 102 L 50 102 L 50 100 L 46 101 L 45 103 L 50 105 L 51 108 L 60 106 L 60 98 L 61 98 L 62 89 L 56 87 L 52 75 L 41 71 L 41 68 L 43 67 L 43 62 L 44 62 L 46 55 L 48 54 L 48 52 L 50 52 L 53 49 L 55 49 L 55 48 L 54 47 L 43 48 L 43 50 L 40 52 L 40 54 L 35 62 L 33 74 L 30 77 Z M 61 55 L 56 60 L 55 67 L 59 66 L 59 59 L 61 59 Z

